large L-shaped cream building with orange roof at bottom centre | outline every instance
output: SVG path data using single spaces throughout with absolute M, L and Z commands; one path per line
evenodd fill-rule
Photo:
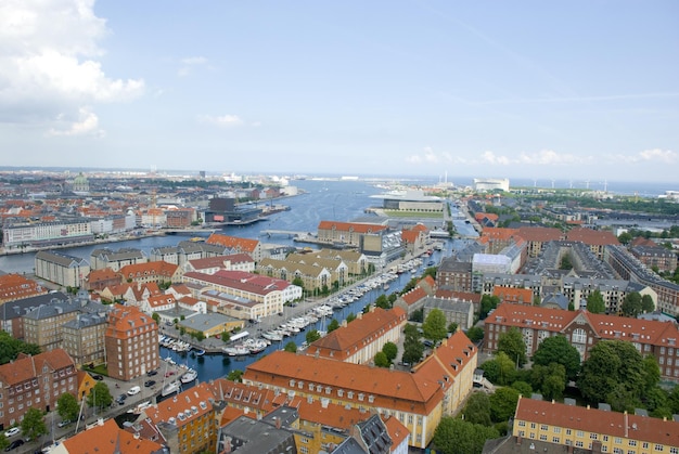
M 370 367 L 285 351 L 246 367 L 243 382 L 395 416 L 424 449 L 444 415 L 456 414 L 472 390 L 477 351 L 457 332 L 412 372 Z

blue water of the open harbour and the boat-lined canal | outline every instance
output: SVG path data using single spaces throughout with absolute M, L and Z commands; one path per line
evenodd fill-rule
M 379 198 L 371 198 L 371 195 L 380 194 L 383 190 L 374 187 L 372 184 L 364 181 L 300 180 L 295 181 L 294 184 L 303 190 L 304 194 L 289 197 L 283 200 L 277 200 L 277 204 L 290 206 L 290 211 L 279 212 L 266 221 L 257 222 L 251 225 L 228 226 L 225 228 L 222 232 L 227 235 L 259 238 L 265 243 L 300 246 L 299 243 L 294 243 L 293 239 L 287 236 L 273 236 L 269 238 L 261 236 L 261 232 L 264 230 L 316 232 L 321 220 L 335 219 L 350 221 L 364 217 L 364 210 L 367 208 L 381 206 L 382 203 Z M 471 228 L 470 224 L 466 224 L 463 218 L 454 216 L 454 206 L 452 206 L 452 209 L 454 219 L 453 222 L 458 232 L 473 235 L 473 228 Z M 192 234 L 191 236 L 196 235 Z M 142 249 L 146 254 L 150 254 L 153 248 L 176 246 L 177 243 L 182 239 L 185 239 L 185 237 L 182 238 L 181 235 L 152 236 L 112 243 L 108 245 L 99 244 L 95 246 L 79 246 L 60 250 L 64 254 L 80 257 L 89 261 L 90 254 L 95 248 L 107 246 L 116 250 L 124 247 L 131 247 Z M 452 249 L 461 248 L 463 244 L 463 241 L 447 241 L 444 250 L 435 250 L 432 257 L 428 259 L 425 258 L 420 269 L 413 270 L 412 275 L 410 273 L 400 274 L 397 281 L 390 283 L 389 290 L 386 293 L 390 294 L 394 291 L 400 291 L 412 276 L 422 274 L 424 268 L 427 267 L 428 261 L 434 261 L 435 264 L 438 264 L 443 257 L 450 256 Z M 34 260 L 35 252 L 3 256 L 0 257 L 0 270 L 7 273 L 33 273 L 35 265 Z M 373 302 L 377 296 L 383 293 L 385 291 L 381 288 L 368 291 L 358 300 L 338 311 L 335 311 L 332 317 L 326 319 L 325 323 L 330 323 L 333 317 L 341 322 L 346 319 L 349 313 L 356 314 L 362 311 L 367 304 Z M 281 323 L 283 323 L 283 320 L 281 320 Z M 295 341 L 298 346 L 302 345 L 302 342 L 306 339 L 306 333 L 312 328 L 320 330 L 321 323 L 322 322 L 319 321 L 316 326 L 309 325 L 306 330 L 294 336 L 286 337 L 282 342 L 273 343 L 264 352 L 256 355 L 231 358 L 221 354 L 206 354 L 204 356 L 195 356 L 190 352 L 178 353 L 161 347 L 161 356 L 170 356 L 178 364 L 184 364 L 189 367 L 195 368 L 198 373 L 198 379 L 205 381 L 221 377 L 232 369 L 245 369 L 248 364 L 252 364 L 258 358 L 261 358 L 264 354 L 267 354 L 276 349 L 282 349 L 283 346 L 291 340 Z

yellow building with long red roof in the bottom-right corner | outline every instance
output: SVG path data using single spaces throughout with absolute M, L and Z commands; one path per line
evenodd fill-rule
M 518 399 L 512 436 L 521 443 L 538 440 L 568 452 L 679 452 L 679 423 L 675 420 L 527 398 Z

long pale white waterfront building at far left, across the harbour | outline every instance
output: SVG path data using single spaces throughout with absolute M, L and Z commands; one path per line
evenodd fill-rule
M 49 247 L 94 239 L 90 220 L 86 218 L 49 222 L 14 222 L 2 225 L 2 245 L 8 250 L 26 246 Z

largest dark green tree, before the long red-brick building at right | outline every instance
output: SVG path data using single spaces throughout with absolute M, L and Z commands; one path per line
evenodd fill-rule
M 578 388 L 586 400 L 593 403 L 608 402 L 613 410 L 622 411 L 643 394 L 648 385 L 645 374 L 641 354 L 631 342 L 600 340 L 582 363 Z M 620 398 L 629 399 L 630 402 L 620 403 Z

